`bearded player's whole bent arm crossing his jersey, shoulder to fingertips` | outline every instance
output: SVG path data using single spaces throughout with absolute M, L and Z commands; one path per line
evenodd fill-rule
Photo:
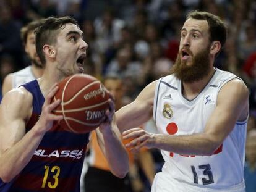
M 241 80 L 229 81 L 221 88 L 216 108 L 202 133 L 170 136 L 134 128 L 124 133 L 124 138 L 134 138 L 126 146 L 133 150 L 147 146 L 177 154 L 210 156 L 231 133 L 237 120 L 246 119 L 249 112 L 248 97 L 249 91 Z

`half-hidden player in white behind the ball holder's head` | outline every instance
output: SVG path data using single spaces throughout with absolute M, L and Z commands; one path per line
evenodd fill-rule
M 4 83 L 2 84 L 3 95 L 12 88 L 17 88 L 20 85 L 35 80 L 43 75 L 43 67 L 39 57 L 36 54 L 34 33 L 41 21 L 42 20 L 35 20 L 30 22 L 20 30 L 20 36 L 24 44 L 25 52 L 31 61 L 31 65 L 25 67 L 25 69 L 19 70 L 18 72 L 10 73 L 6 76 L 6 78 L 4 78 Z

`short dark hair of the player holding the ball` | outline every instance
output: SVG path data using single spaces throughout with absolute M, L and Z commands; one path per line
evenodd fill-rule
M 77 21 L 72 17 L 48 17 L 44 20 L 43 24 L 40 27 L 36 28 L 36 52 L 43 66 L 46 64 L 45 54 L 43 52 L 43 46 L 45 44 L 54 44 L 56 43 L 57 36 L 61 28 L 64 28 L 67 23 L 72 23 L 78 25 Z

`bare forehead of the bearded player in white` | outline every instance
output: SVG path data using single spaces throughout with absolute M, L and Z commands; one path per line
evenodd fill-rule
M 181 31 L 200 31 L 201 33 L 208 33 L 208 22 L 207 20 L 198 20 L 189 18 L 184 23 Z

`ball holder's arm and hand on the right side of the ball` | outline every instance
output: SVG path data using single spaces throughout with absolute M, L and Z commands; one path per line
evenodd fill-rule
M 111 172 L 116 177 L 124 178 L 129 171 L 129 159 L 126 148 L 122 144 L 121 133 L 116 125 L 113 102 L 111 102 L 111 108 L 111 112 L 106 112 L 108 120 L 101 123 L 96 134 L 98 144 L 105 154 Z

